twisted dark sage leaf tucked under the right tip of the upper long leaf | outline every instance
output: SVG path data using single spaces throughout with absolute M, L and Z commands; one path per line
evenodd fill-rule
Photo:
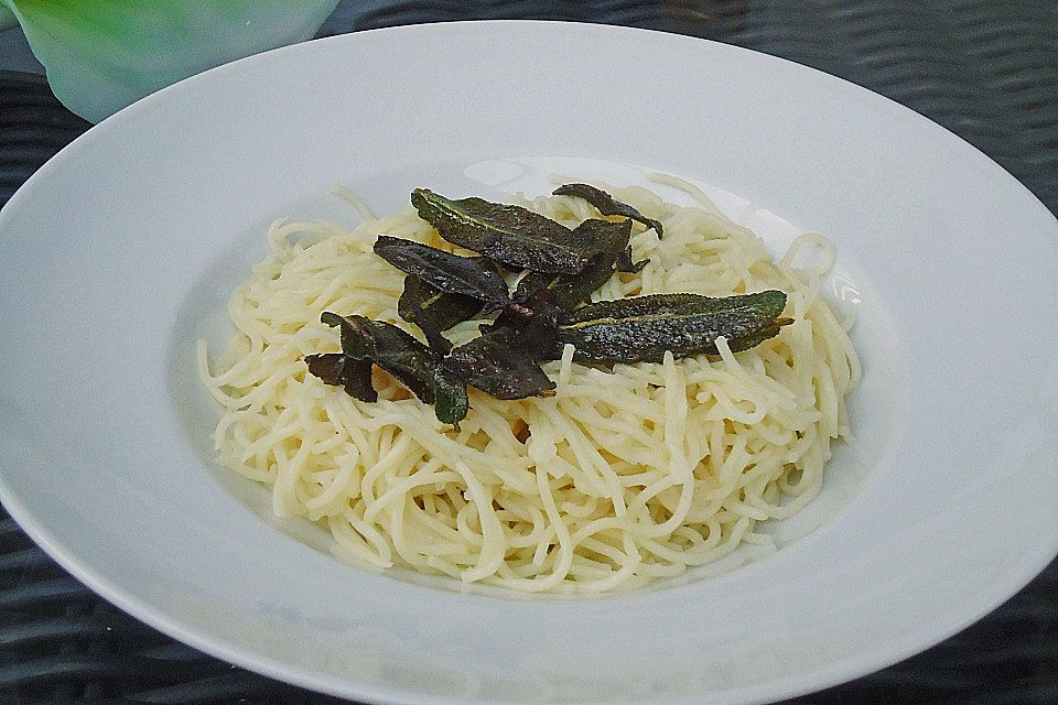
M 600 286 L 609 281 L 617 263 L 625 254 L 628 238 L 631 236 L 631 221 L 611 223 L 591 218 L 576 226 L 574 235 L 583 240 L 595 242 L 596 253 L 577 274 L 526 274 L 515 291 L 515 301 L 525 302 L 531 294 L 541 290 L 550 291 L 554 304 L 570 311 L 587 301 Z M 630 256 L 629 256 L 630 263 Z

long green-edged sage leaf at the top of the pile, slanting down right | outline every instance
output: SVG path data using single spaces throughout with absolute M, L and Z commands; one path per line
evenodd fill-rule
M 593 253 L 565 226 L 521 206 L 453 200 L 425 188 L 414 189 L 411 203 L 449 242 L 509 267 L 575 274 Z

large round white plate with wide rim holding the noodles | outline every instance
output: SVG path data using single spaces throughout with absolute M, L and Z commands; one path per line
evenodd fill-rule
M 769 212 L 828 234 L 832 293 L 862 301 L 860 443 L 807 536 L 633 595 L 489 597 L 339 564 L 206 462 L 193 338 L 217 335 L 273 216 L 353 221 L 333 182 L 386 212 L 419 185 L 643 169 L 745 198 L 727 203 L 776 247 L 790 229 Z M 4 506 L 118 606 L 292 683 L 387 703 L 765 702 L 937 642 L 1058 549 L 1055 218 L 932 122 L 770 56 L 543 22 L 280 50 L 90 130 L 3 209 L 0 245 Z

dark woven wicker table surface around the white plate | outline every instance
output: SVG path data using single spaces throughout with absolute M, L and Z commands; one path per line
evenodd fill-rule
M 320 34 L 498 18 L 678 32 L 820 68 L 939 122 L 1058 213 L 1055 0 L 347 0 Z M 0 204 L 87 127 L 40 76 L 0 72 Z M 0 703 L 335 702 L 217 661 L 125 615 L 0 510 Z M 929 651 L 786 705 L 883 703 L 1058 703 L 1058 562 Z

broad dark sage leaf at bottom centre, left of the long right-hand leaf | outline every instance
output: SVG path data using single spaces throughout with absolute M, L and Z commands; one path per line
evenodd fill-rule
M 548 397 L 554 382 L 518 344 L 518 332 L 498 328 L 453 349 L 442 366 L 497 399 Z

